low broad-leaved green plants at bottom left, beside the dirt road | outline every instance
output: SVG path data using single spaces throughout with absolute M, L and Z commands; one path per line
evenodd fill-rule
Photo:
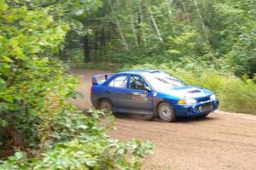
M 140 169 L 140 158 L 152 153 L 154 145 L 136 139 L 125 144 L 110 139 L 113 116 L 103 111 L 90 113 L 85 116 L 72 111 L 56 116 L 49 136 L 58 142 L 52 149 L 36 157 L 18 151 L 1 161 L 0 169 Z

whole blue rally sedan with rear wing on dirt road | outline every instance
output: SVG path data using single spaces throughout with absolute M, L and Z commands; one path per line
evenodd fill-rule
M 174 122 L 177 116 L 207 116 L 218 109 L 212 91 L 157 70 L 94 76 L 90 100 L 96 109 L 159 116 L 162 122 Z

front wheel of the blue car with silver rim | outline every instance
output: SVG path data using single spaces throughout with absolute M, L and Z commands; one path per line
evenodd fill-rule
M 157 107 L 157 113 L 161 122 L 175 122 L 176 115 L 172 108 L 172 105 L 162 102 Z

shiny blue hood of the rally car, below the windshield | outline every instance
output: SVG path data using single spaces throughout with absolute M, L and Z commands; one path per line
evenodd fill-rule
M 195 99 L 213 94 L 212 91 L 208 90 L 207 88 L 201 88 L 196 86 L 183 86 L 180 88 L 172 88 L 161 93 L 178 99 Z

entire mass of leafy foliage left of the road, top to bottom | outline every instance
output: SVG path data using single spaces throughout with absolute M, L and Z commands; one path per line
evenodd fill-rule
M 48 1 L 7 2 L 0 0 L 0 169 L 140 169 L 153 144 L 110 139 L 113 116 L 67 103 L 79 81 L 55 55 L 70 24 L 42 7 Z

